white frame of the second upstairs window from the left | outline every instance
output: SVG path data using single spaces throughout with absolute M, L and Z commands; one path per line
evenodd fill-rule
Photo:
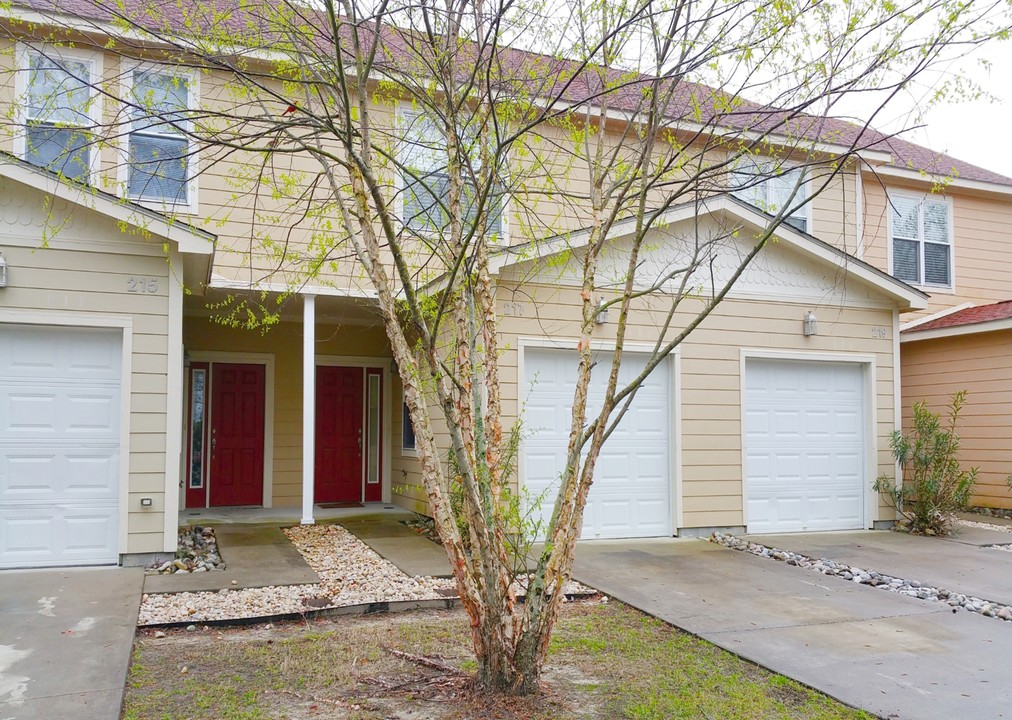
M 120 92 L 124 98 L 131 98 L 133 96 L 134 88 L 136 86 L 135 83 L 141 73 L 150 73 L 152 76 L 163 76 L 165 78 L 176 79 L 179 83 L 185 85 L 186 108 L 189 110 L 196 110 L 199 108 L 199 75 L 194 71 L 178 68 L 172 65 L 140 62 L 128 63 L 124 61 L 124 67 L 120 79 Z M 143 100 L 144 98 L 141 99 Z M 143 118 L 142 112 L 138 112 L 132 108 L 124 107 L 122 108 L 122 112 L 124 113 L 123 119 L 129 128 L 129 132 L 122 135 L 119 142 L 119 163 L 116 180 L 122 188 L 122 195 L 145 206 L 146 208 L 160 212 L 177 211 L 190 215 L 196 214 L 199 210 L 199 204 L 197 201 L 199 152 L 193 147 L 192 138 L 189 138 L 184 134 L 171 131 L 169 128 L 165 127 L 165 124 L 159 123 L 157 119 L 153 122 L 146 122 Z M 181 125 L 184 129 L 188 129 L 186 128 L 185 123 Z M 134 157 L 131 150 L 132 138 L 135 141 L 143 140 L 153 146 L 157 146 L 160 141 L 163 144 L 166 144 L 167 141 L 168 144 L 171 144 L 171 141 L 185 140 L 185 198 L 179 199 L 177 197 L 159 196 L 158 193 L 150 191 L 145 192 L 143 189 L 141 189 L 141 191 L 132 191 L 132 174 L 135 171 L 135 168 L 132 167 L 132 159 Z M 152 165 L 151 170 L 157 170 L 157 164 Z M 134 190 L 137 189 L 138 188 L 134 188 Z

